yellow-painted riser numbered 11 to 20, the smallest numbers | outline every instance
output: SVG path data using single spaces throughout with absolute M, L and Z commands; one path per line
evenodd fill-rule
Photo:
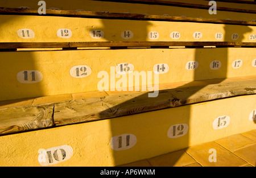
M 0 23 L 0 42 L 256 41 L 255 26 L 227 24 L 89 19 L 32 15 L 1 15 Z M 94 33 L 93 30 L 95 30 Z M 59 35 L 57 35 L 58 31 Z M 126 37 L 129 38 L 122 38 L 125 31 Z M 127 31 L 130 31 L 129 35 Z M 151 32 L 153 34 L 150 34 Z M 155 32 L 158 32 L 158 35 L 155 35 Z M 171 34 L 172 32 L 179 32 L 177 38 L 174 38 L 176 34 Z M 198 34 L 195 35 L 195 32 Z M 216 38 L 216 34 L 220 33 L 221 35 Z M 133 37 L 131 34 L 133 34 Z M 234 36 L 234 34 L 237 34 L 238 36 Z

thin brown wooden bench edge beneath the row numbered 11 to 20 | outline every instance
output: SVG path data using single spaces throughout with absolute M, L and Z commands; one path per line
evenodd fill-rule
M 0 49 L 16 48 L 63 48 L 76 49 L 81 47 L 171 47 L 171 46 L 218 46 L 218 47 L 255 47 L 256 43 L 247 42 L 14 42 L 0 43 Z

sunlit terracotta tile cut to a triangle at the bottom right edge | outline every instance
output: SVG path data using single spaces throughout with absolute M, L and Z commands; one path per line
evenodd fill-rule
M 246 160 L 251 165 L 256 166 L 256 144 L 236 150 L 234 154 Z

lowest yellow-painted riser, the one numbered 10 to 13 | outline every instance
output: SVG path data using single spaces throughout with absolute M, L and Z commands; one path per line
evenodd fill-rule
M 72 147 L 73 154 L 70 159 L 53 166 L 113 166 L 151 158 L 256 129 L 255 121 L 249 120 L 251 111 L 255 110 L 255 101 L 256 95 L 240 96 L 0 136 L 0 165 L 41 166 L 38 161 L 40 149 L 63 145 Z M 222 129 L 213 129 L 213 121 L 222 115 L 230 117 L 229 124 Z M 188 125 L 187 134 L 169 138 L 167 133 L 170 127 L 180 124 Z M 127 150 L 115 151 L 110 140 L 122 134 L 135 135 L 137 142 Z

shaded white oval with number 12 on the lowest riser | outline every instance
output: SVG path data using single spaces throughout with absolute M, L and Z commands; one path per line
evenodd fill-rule
M 178 138 L 188 133 L 188 125 L 186 123 L 172 125 L 168 132 L 167 136 L 169 138 Z

